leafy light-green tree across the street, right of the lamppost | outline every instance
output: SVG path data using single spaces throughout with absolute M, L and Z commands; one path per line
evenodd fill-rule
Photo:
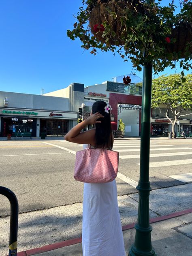
M 165 76 L 162 75 L 152 81 L 152 101 L 151 107 L 166 105 L 166 118 L 172 124 L 173 138 L 175 136 L 174 127 L 177 119 L 191 113 L 192 111 L 192 75 L 187 75 L 182 82 L 180 74 Z M 173 119 L 169 117 L 169 110 L 173 113 Z

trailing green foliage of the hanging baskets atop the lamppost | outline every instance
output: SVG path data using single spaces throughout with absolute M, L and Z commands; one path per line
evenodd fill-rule
M 110 2 L 111 5 L 115 3 L 114 9 L 109 8 Z M 122 7 L 125 2 L 126 7 Z M 160 6 L 160 2 L 161 0 L 155 3 L 151 1 L 147 4 L 144 0 L 82 0 L 83 6 L 79 8 L 74 28 L 68 30 L 67 35 L 72 40 L 78 37 L 83 43 L 81 47 L 91 49 L 90 53 L 94 55 L 97 53 L 96 49 L 119 53 L 124 61 L 130 59 L 132 66 L 139 71 L 145 63 L 151 61 L 155 73 L 168 66 L 175 68 L 176 61 L 180 61 L 183 70 L 189 70 L 192 67 L 192 54 L 188 49 L 192 43 L 185 48 L 185 58 L 182 59 L 181 52 L 170 53 L 167 50 L 169 43 L 165 38 L 169 37 L 170 44 L 174 43 L 177 39 L 171 37 L 172 29 L 192 22 L 192 2 L 180 0 L 181 10 L 176 15 L 174 0 L 170 0 L 168 6 Z M 102 32 L 93 33 L 90 26 L 91 11 L 101 3 L 107 4 L 105 11 L 111 21 L 102 23 L 105 28 Z M 117 21 L 120 22 L 119 30 L 115 30 Z M 96 38 L 97 33 L 101 33 L 103 40 Z

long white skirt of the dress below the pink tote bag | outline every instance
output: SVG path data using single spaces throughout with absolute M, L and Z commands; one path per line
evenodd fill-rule
M 125 256 L 116 181 L 84 183 L 83 256 Z

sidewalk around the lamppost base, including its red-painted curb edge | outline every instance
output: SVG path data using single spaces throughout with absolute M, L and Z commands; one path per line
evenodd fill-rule
M 187 212 L 187 211 L 186 211 Z M 192 212 L 190 209 L 189 212 Z M 157 256 L 191 256 L 192 252 L 192 213 L 184 212 L 167 216 L 167 220 L 152 219 L 153 231 L 151 233 L 152 246 Z M 181 215 L 182 214 L 182 215 Z M 175 215 L 175 217 L 174 217 Z M 164 219 L 166 219 L 164 217 Z M 134 243 L 135 229 L 128 225 L 123 231 L 126 256 L 132 243 Z M 82 256 L 81 239 L 73 239 L 66 243 L 48 245 L 47 247 L 29 250 L 17 254 L 18 256 Z M 117 255 L 118 256 L 118 255 Z

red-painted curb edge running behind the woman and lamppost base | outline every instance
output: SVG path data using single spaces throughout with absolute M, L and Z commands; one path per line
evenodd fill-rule
M 172 218 L 184 215 L 184 214 L 188 214 L 188 213 L 192 213 L 192 208 L 184 210 L 184 211 L 178 211 L 178 212 L 175 212 L 175 213 L 171 213 L 169 215 L 164 215 L 164 216 L 160 216 L 160 217 L 156 217 L 156 218 L 151 218 L 149 220 L 149 223 L 155 223 L 155 222 L 160 222 L 160 221 L 163 221 L 163 220 L 169 220 L 169 219 L 172 219 Z M 134 226 L 135 226 L 135 223 L 125 225 L 125 226 L 122 226 L 122 230 L 123 231 L 129 230 L 129 229 L 134 228 Z M 63 241 L 63 242 L 60 242 L 60 243 L 53 243 L 53 244 L 50 244 L 50 245 L 45 245 L 43 247 L 39 247 L 39 248 L 31 249 L 31 250 L 26 250 L 26 251 L 23 251 L 23 252 L 18 252 L 17 256 L 31 256 L 31 255 L 40 254 L 40 253 L 43 253 L 43 252 L 49 252 L 49 251 L 52 251 L 52 250 L 56 250 L 56 249 L 66 247 L 66 246 L 69 246 L 69 245 L 75 245 L 77 243 L 81 243 L 81 237 L 66 240 L 66 241 Z

